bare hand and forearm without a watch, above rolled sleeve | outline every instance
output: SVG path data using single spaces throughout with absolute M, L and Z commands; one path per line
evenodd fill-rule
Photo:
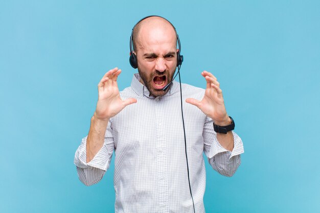
M 117 78 L 121 69 L 110 69 L 98 84 L 99 98 L 94 116 L 91 118 L 90 130 L 86 139 L 86 161 L 90 162 L 104 144 L 104 135 L 109 119 L 136 99 L 122 100 L 120 98 Z

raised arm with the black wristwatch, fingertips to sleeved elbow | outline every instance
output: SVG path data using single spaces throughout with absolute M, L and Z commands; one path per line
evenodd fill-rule
M 207 81 L 203 99 L 198 101 L 189 98 L 186 102 L 197 106 L 207 115 L 203 138 L 204 152 L 209 157 L 210 164 L 220 174 L 232 176 L 240 164 L 240 154 L 243 153 L 242 141 L 232 131 L 221 134 L 213 130 L 213 121 L 219 126 L 226 126 L 231 124 L 231 120 L 226 113 L 217 78 L 207 71 L 203 71 L 201 75 Z

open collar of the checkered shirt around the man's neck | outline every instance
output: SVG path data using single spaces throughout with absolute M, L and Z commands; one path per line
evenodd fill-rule
M 147 97 L 149 99 L 155 99 L 155 97 L 150 96 L 150 92 L 147 89 L 147 87 L 145 85 L 143 85 L 140 82 L 140 75 L 138 73 L 135 73 L 132 77 L 132 81 L 131 81 L 131 88 L 133 89 L 133 91 L 135 93 L 137 93 L 139 96 L 144 96 Z M 179 91 L 179 83 L 176 81 L 173 81 L 171 83 L 171 86 L 169 86 L 168 88 L 168 92 L 164 95 L 164 96 L 171 96 L 172 94 L 176 93 Z

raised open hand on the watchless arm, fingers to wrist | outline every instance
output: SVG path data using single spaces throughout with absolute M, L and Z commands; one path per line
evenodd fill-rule
M 120 73 L 121 69 L 118 69 L 118 67 L 110 69 L 98 84 L 99 94 L 95 117 L 99 120 L 109 120 L 127 105 L 136 103 L 134 98 L 124 101 L 120 98 L 117 84 L 117 78 Z

